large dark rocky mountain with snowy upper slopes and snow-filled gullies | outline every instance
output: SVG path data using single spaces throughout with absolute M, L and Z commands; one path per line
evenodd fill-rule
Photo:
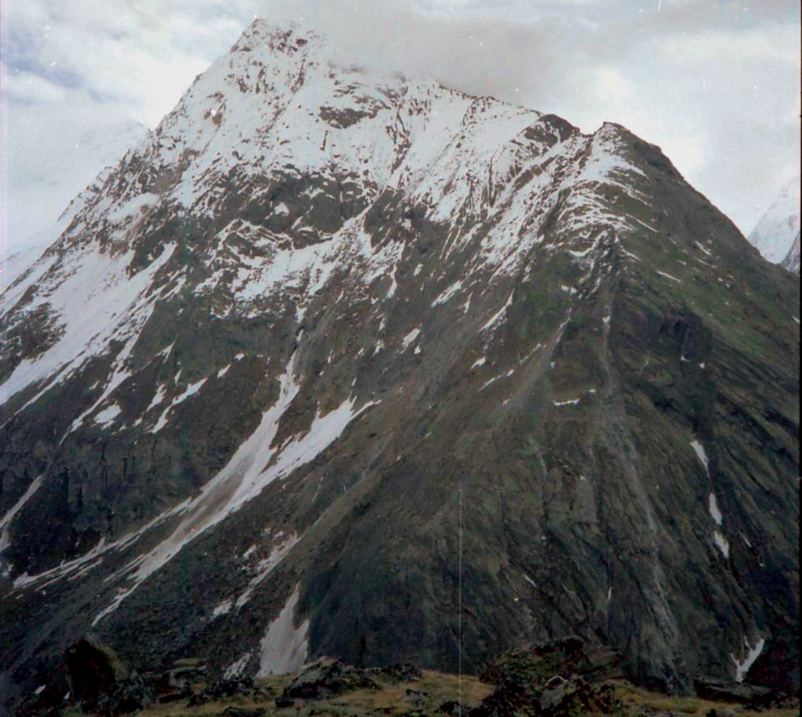
M 799 283 L 657 147 L 249 27 L 0 296 L 7 694 L 227 674 L 798 686 Z

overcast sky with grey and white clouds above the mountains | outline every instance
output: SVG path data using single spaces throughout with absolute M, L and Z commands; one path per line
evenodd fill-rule
M 4 212 L 23 169 L 47 166 L 44 148 L 154 127 L 254 14 L 585 132 L 624 124 L 744 233 L 800 171 L 796 0 L 6 0 Z

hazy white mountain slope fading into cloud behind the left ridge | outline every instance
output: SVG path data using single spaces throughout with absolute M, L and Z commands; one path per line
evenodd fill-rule
M 143 124 L 91 117 L 26 117 L 5 132 L 0 287 L 6 288 L 69 224 L 68 205 L 104 167 L 148 133 Z M 35 146 L 35 153 L 22 148 Z M 59 219 L 59 215 L 62 215 Z

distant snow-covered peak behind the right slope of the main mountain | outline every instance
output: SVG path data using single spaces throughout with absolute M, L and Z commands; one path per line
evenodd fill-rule
M 800 272 L 800 177 L 789 181 L 751 230 L 749 241 L 768 261 Z

